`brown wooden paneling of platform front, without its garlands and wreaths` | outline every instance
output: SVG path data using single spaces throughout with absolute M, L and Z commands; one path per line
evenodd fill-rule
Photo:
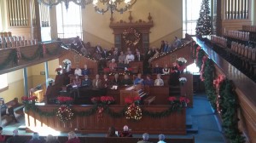
M 38 106 L 44 112 L 52 112 L 59 106 Z M 72 106 L 77 112 L 88 111 L 92 106 Z M 121 111 L 125 106 L 110 106 L 113 112 Z M 143 110 L 150 112 L 163 112 L 169 106 L 142 106 Z M 108 114 L 103 114 L 103 120 L 97 120 L 97 114 L 89 117 L 75 117 L 72 121 L 62 123 L 58 117 L 38 116 L 37 112 L 26 112 L 25 116 L 26 128 L 43 129 L 43 123 L 50 129 L 69 132 L 70 130 L 78 129 L 81 133 L 106 133 L 110 126 L 114 126 L 116 130 L 122 130 L 124 125 L 128 125 L 134 134 L 186 134 L 186 110 L 181 112 L 173 112 L 170 116 L 153 118 L 143 116 L 137 122 L 127 120 L 125 117 L 113 118 Z

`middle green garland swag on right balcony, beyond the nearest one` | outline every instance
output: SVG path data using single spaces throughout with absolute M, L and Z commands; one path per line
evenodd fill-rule
M 215 71 L 215 68 L 213 66 L 213 61 L 210 59 L 207 59 L 205 63 L 205 71 L 203 75 L 205 78 L 204 83 L 205 83 L 208 99 L 210 100 L 212 108 L 216 110 L 216 92 L 213 87 L 214 71 Z

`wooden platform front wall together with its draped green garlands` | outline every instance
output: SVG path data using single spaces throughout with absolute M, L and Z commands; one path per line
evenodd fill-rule
M 128 125 L 133 134 L 186 134 L 185 108 L 172 111 L 169 105 L 140 106 L 143 117 L 134 121 L 126 119 L 124 114 L 119 114 L 127 106 L 110 105 L 100 114 L 95 105 L 73 105 L 70 107 L 76 116 L 63 123 L 59 117 L 51 114 L 59 107 L 58 105 L 34 106 L 33 109 L 27 110 L 25 112 L 26 131 L 54 129 L 61 132 L 74 130 L 82 134 L 107 133 L 110 126 L 115 127 L 117 131 L 122 131 L 124 125 Z M 162 116 L 163 114 L 166 116 Z

